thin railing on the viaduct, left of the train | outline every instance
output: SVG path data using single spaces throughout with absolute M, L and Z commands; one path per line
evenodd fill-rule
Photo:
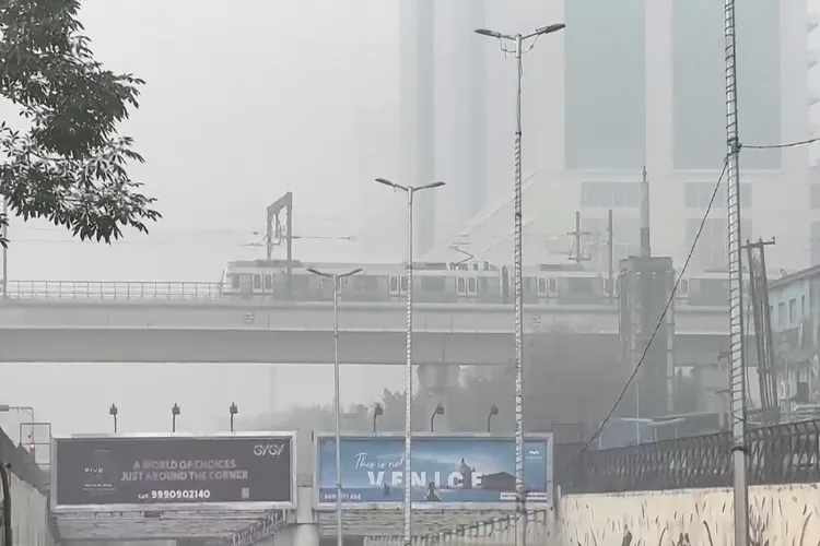
M 221 283 L 144 281 L 9 281 L 11 299 L 216 300 Z

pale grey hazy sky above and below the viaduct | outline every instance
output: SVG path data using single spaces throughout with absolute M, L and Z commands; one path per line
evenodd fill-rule
M 286 191 L 294 192 L 294 235 L 339 238 L 297 240 L 296 258 L 372 260 L 362 250 L 366 241 L 377 256 L 400 260 L 403 199 L 371 183 L 373 176 L 401 176 L 399 1 L 243 0 L 242 10 L 227 10 L 212 0 L 86 0 L 81 19 L 97 59 L 147 81 L 141 108 L 121 132 L 134 136 L 147 159 L 130 166 L 131 176 L 159 199 L 164 218 L 149 226 L 151 235 L 127 233 L 112 246 L 11 218 L 10 280 L 218 281 L 227 261 L 263 257 L 265 206 Z M 487 3 L 488 26 L 537 26 L 535 0 Z M 538 92 L 549 75 L 535 67 L 551 62 L 552 47 L 541 43 L 528 58 L 527 85 L 534 86 L 525 117 L 535 110 L 547 117 Z M 485 176 L 487 200 L 494 202 L 509 193 L 512 179 L 514 69 L 496 44 L 480 50 L 492 82 Z M 9 105 L 0 103 L 0 118 L 14 122 Z M 528 146 L 549 142 L 534 133 Z M 537 163 L 549 157 L 525 154 L 525 173 Z M 456 186 L 441 203 L 454 203 Z M 436 226 L 454 234 L 456 224 Z M 3 367 L 0 403 L 35 406 L 55 434 L 110 430 L 113 402 L 121 431 L 169 430 L 175 402 L 183 408 L 179 429 L 190 431 L 226 428 L 231 402 L 239 405 L 239 422 L 270 407 L 261 366 Z M 344 367 L 342 402 L 403 389 L 402 373 L 400 367 Z M 329 366 L 281 367 L 278 378 L 279 408 L 332 400 Z M 12 437 L 17 417 L 0 414 Z

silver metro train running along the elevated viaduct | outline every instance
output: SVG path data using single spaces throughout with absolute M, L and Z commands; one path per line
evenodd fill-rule
M 311 273 L 343 274 L 361 268 L 362 273 L 340 283 L 342 301 L 389 302 L 407 297 L 406 264 L 351 264 L 291 262 L 284 260 L 245 260 L 229 263 L 222 274 L 222 295 L 226 298 L 290 299 L 295 301 L 332 300 L 332 281 Z M 618 281 L 585 271 L 575 264 L 525 265 L 522 294 L 525 304 L 600 305 L 618 296 Z M 290 292 L 290 297 L 288 294 Z M 610 295 L 611 292 L 611 295 Z M 417 302 L 506 304 L 513 298 L 512 268 L 488 262 L 414 263 L 413 298 Z M 726 272 L 696 273 L 684 276 L 678 285 L 680 304 L 722 306 L 728 301 Z

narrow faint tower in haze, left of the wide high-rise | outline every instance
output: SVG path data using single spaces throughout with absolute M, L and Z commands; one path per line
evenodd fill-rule
M 487 203 L 484 0 L 401 2 L 400 17 L 402 183 L 447 182 L 417 194 L 421 256 Z

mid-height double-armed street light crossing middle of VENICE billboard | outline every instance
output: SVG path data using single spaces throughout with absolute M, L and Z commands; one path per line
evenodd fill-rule
M 394 190 L 401 190 L 407 193 L 407 324 L 405 339 L 405 353 L 407 360 L 405 363 L 405 546 L 410 546 L 412 541 L 411 518 L 412 518 L 412 497 L 411 497 L 411 470 L 410 470 L 410 448 L 413 435 L 412 428 L 412 401 L 413 401 L 413 194 L 417 191 L 432 190 L 441 188 L 444 182 L 437 181 L 425 186 L 401 186 L 391 182 L 386 178 L 376 178 L 378 183 L 389 186 Z

